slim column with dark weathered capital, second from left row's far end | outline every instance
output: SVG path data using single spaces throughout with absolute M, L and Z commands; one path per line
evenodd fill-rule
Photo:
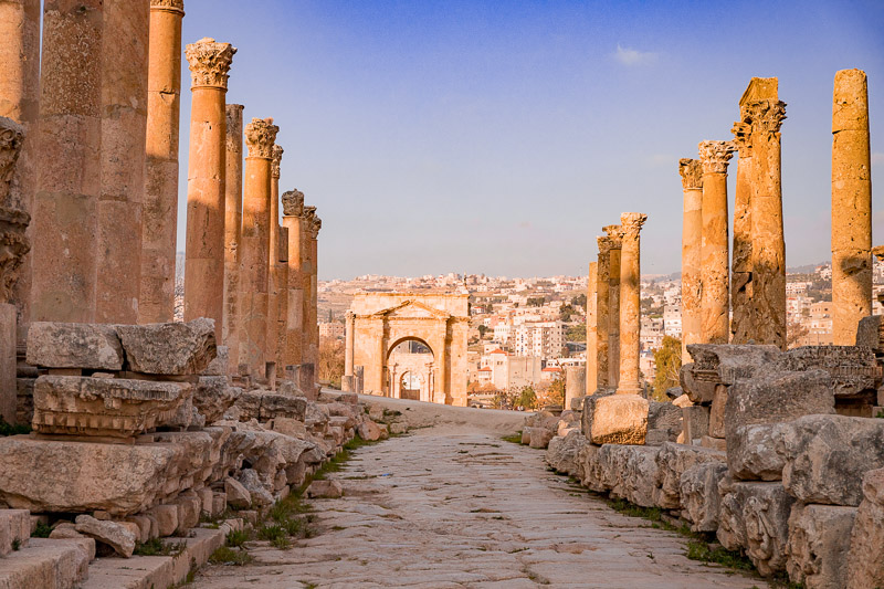
M 285 351 L 287 369 L 304 361 L 304 276 L 302 243 L 304 242 L 304 193 L 292 190 L 283 194 L 283 225 L 288 230 L 288 312 L 285 317 Z

